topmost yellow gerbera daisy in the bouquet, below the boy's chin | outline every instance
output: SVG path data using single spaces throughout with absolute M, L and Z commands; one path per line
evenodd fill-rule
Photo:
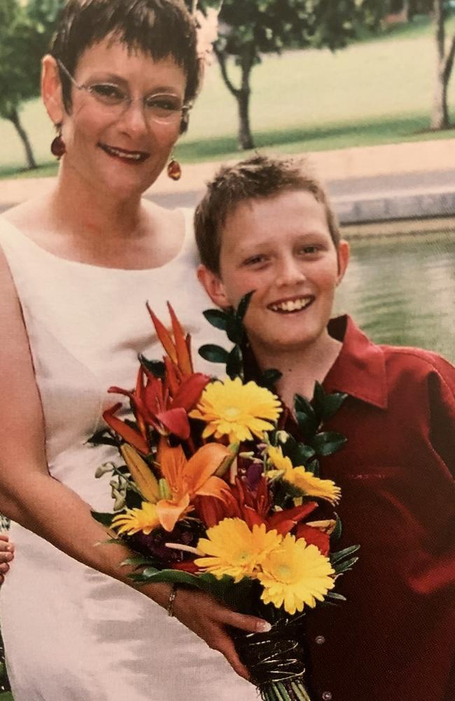
M 252 440 L 253 434 L 262 438 L 264 431 L 273 428 L 281 411 L 278 397 L 255 382 L 244 385 L 239 377 L 217 380 L 204 389 L 197 408 L 190 412 L 193 418 L 207 423 L 202 436 L 229 436 L 231 443 Z M 269 419 L 269 421 L 264 421 Z

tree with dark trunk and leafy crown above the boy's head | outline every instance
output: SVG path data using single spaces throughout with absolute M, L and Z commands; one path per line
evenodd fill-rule
M 217 6 L 205 0 L 202 6 Z M 220 32 L 214 51 L 221 75 L 237 100 L 239 148 L 253 148 L 249 119 L 251 72 L 264 53 L 284 48 L 346 46 L 360 23 L 374 27 L 386 12 L 387 0 L 224 0 L 219 16 Z M 240 68 L 236 86 L 230 62 Z

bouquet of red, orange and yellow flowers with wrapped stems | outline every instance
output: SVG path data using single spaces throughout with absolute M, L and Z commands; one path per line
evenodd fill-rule
M 340 533 L 334 507 L 340 490 L 319 477 L 318 458 L 345 442 L 321 430 L 346 395 L 316 383 L 308 402 L 295 396 L 295 437 L 286 408 L 270 389 L 277 374 L 245 381 L 244 327 L 249 297 L 237 310 L 208 310 L 212 325 L 234 344 L 200 354 L 225 362 L 225 379 L 194 371 L 190 338 L 172 306 L 172 333 L 150 307 L 163 360 L 139 357 L 134 390 L 111 387 L 130 400 L 131 418 L 104 413 L 109 428 L 94 444 L 118 447 L 111 475 L 113 513 L 94 512 L 137 552 L 125 561 L 138 583 L 198 587 L 241 613 L 259 615 L 267 633 L 233 633 L 242 662 L 264 701 L 309 701 L 304 680 L 302 618 L 307 607 L 343 599 L 339 574 L 356 561 L 353 545 L 333 552 Z

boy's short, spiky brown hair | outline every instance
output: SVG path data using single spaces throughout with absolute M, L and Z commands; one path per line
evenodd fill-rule
M 338 248 L 337 217 L 308 161 L 304 158 L 253 156 L 235 165 L 223 165 L 207 184 L 204 198 L 196 207 L 196 242 L 204 266 L 219 275 L 223 226 L 228 215 L 241 202 L 273 197 L 288 190 L 309 192 L 323 205 L 330 236 Z

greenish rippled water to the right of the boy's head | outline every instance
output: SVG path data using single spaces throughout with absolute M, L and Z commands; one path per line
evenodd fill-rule
M 378 343 L 455 362 L 455 233 L 352 240 L 336 310 Z

